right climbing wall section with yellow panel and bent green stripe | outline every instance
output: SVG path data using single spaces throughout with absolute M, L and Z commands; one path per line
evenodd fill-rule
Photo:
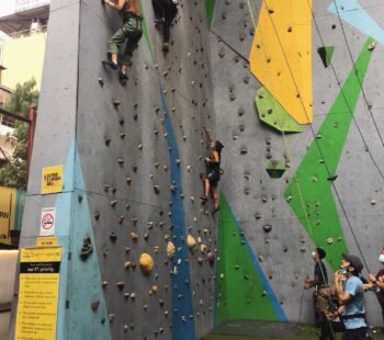
M 223 141 L 216 325 L 314 321 L 310 252 L 376 272 L 383 247 L 384 5 L 206 1 Z M 332 276 L 330 274 L 330 276 Z M 368 316 L 381 325 L 366 294 Z

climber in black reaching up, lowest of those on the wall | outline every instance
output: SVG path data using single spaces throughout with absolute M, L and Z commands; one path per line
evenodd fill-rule
M 213 213 L 219 209 L 217 183 L 221 179 L 221 160 L 224 145 L 212 138 L 211 131 L 203 126 L 211 144 L 211 156 L 205 157 L 206 175 L 204 178 L 204 194 L 201 196 L 202 204 L 208 201 L 210 193 L 213 196 Z

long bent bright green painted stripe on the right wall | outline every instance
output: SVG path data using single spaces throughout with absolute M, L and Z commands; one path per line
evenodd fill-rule
M 309 233 L 313 241 L 316 246 L 323 247 L 327 251 L 327 260 L 334 270 L 339 265 L 341 253 L 347 251 L 347 242 L 332 194 L 332 183 L 327 180 L 326 166 L 331 175 L 336 174 L 352 116 L 360 98 L 360 83 L 364 81 L 371 60 L 372 52 L 368 49 L 368 46 L 372 42 L 372 38 L 366 41 L 354 68 L 342 87 L 343 93 L 340 92 L 337 97 L 317 133 L 317 140 L 312 143 L 296 170 L 296 179 L 305 211 L 303 211 L 295 179 L 291 181 L 284 193 L 291 208 Z M 319 149 L 323 152 L 326 166 Z M 305 214 L 307 214 L 307 218 Z M 334 242 L 327 242 L 328 238 L 331 238 Z

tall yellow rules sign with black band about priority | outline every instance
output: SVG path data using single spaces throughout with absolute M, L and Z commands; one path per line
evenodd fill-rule
M 61 247 L 22 248 L 15 340 L 56 339 Z

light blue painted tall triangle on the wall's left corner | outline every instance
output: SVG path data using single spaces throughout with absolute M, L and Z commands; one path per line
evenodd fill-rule
M 80 158 L 76 144 L 72 141 L 64 168 L 64 192 L 57 194 L 55 202 L 55 236 L 58 238 L 58 245 L 63 247 L 56 340 L 75 339 L 81 337 L 82 332 L 91 332 L 100 336 L 103 340 L 109 340 L 111 339 L 110 325 L 109 322 L 104 322 L 104 325 L 100 322 L 102 316 L 106 317 L 106 307 L 100 285 L 101 274 L 95 250 L 87 262 L 82 262 L 76 251 L 81 248 L 84 236 L 90 237 L 93 245 L 95 242 L 87 197 L 82 201 L 82 208 L 77 208 L 74 212 L 75 185 L 77 189 L 84 191 Z M 78 216 L 77 223 L 75 223 L 76 215 Z M 75 251 L 70 265 L 68 262 L 69 243 L 72 252 Z M 70 280 L 70 285 L 68 280 Z M 86 291 L 87 294 L 83 293 Z M 92 313 L 90 308 L 90 302 L 88 301 L 90 296 L 100 301 L 97 313 Z M 71 304 L 70 309 L 66 309 L 67 299 Z M 70 315 L 70 313 L 72 314 Z M 88 325 L 88 327 L 83 327 L 83 325 Z

